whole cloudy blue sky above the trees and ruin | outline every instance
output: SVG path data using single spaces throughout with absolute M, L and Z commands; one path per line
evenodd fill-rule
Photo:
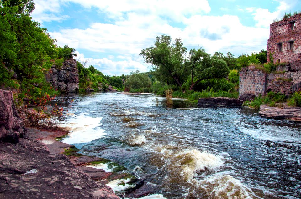
M 267 49 L 269 27 L 301 0 L 34 0 L 32 18 L 76 60 L 105 75 L 149 71 L 139 55 L 156 36 L 181 38 L 187 48 L 230 51 L 235 57 Z

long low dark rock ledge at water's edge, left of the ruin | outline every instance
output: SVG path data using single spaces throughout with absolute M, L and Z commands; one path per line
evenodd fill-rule
M 198 105 L 241 106 L 242 101 L 230 97 L 209 97 L 198 99 Z

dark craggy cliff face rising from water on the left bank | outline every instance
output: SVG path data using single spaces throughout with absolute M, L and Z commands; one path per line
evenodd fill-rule
M 50 82 L 53 88 L 62 92 L 71 93 L 79 90 L 78 70 L 75 59 L 65 60 L 61 69 L 57 69 L 55 65 L 52 65 L 45 76 L 46 81 Z

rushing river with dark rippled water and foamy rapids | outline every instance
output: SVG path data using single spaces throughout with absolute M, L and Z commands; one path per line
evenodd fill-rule
M 74 99 L 74 102 L 71 101 Z M 155 95 L 74 94 L 63 142 L 107 158 L 165 198 L 299 198 L 301 124 L 249 108 L 198 107 Z

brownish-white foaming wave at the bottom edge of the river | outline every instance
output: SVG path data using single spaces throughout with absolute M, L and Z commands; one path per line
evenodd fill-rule
M 210 176 L 198 183 L 213 198 L 259 198 L 250 188 L 230 175 Z

